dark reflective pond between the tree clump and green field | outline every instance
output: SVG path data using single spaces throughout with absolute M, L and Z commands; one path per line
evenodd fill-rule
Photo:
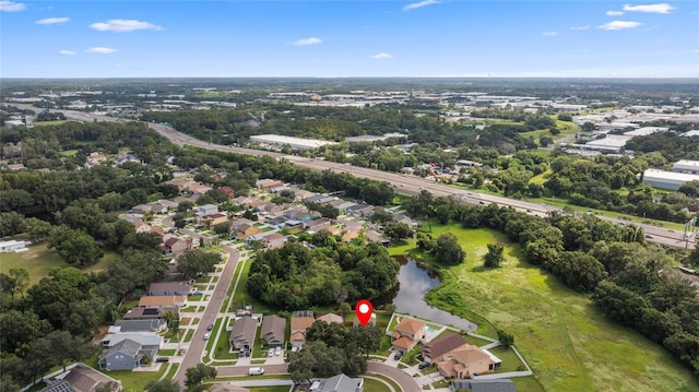
M 425 302 L 427 292 L 439 284 L 439 277 L 434 271 L 419 266 L 412 259 L 399 261 L 401 261 L 399 284 L 389 295 L 381 298 L 381 304 L 392 301 L 395 305 L 395 310 L 401 313 L 414 314 L 420 319 L 433 320 L 441 324 L 451 324 L 466 331 L 476 330 L 477 325 L 473 322 Z

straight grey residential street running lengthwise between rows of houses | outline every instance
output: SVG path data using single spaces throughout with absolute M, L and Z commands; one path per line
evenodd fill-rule
M 171 217 L 166 217 L 163 219 L 163 224 L 168 227 L 175 227 L 173 224 Z M 190 235 L 192 238 L 200 238 L 201 235 L 193 230 L 180 229 L 182 233 Z M 197 331 L 194 331 L 194 335 L 189 344 L 189 348 L 187 353 L 185 353 L 185 357 L 182 358 L 182 363 L 177 369 L 177 373 L 173 378 L 175 381 L 180 384 L 185 384 L 185 372 L 188 368 L 197 366 L 201 363 L 201 357 L 204 354 L 204 348 L 206 347 L 206 341 L 204 341 L 204 334 L 206 333 L 206 325 L 213 324 L 216 321 L 216 316 L 218 316 L 218 310 L 223 305 L 223 301 L 226 299 L 226 293 L 228 288 L 233 284 L 233 274 L 236 271 L 236 265 L 238 264 L 238 260 L 240 259 L 240 253 L 233 247 L 223 247 L 223 249 L 228 252 L 228 260 L 226 261 L 226 265 L 223 269 L 221 277 L 216 283 L 216 287 L 214 288 L 211 298 L 209 299 L 209 304 L 206 305 L 206 309 L 199 322 L 199 326 Z M 247 371 L 247 370 L 246 370 Z

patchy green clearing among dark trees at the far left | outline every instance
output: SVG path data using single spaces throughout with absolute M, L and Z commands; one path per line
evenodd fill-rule
M 29 273 L 29 286 L 34 285 L 44 276 L 48 276 L 52 268 L 67 268 L 66 263 L 55 250 L 48 249 L 46 243 L 38 243 L 28 247 L 28 251 L 21 253 L 0 253 L 0 272 L 8 273 L 10 269 L 20 266 Z M 106 270 L 111 262 L 117 259 L 117 253 L 105 252 L 105 256 L 96 264 L 82 268 L 85 272 L 98 272 Z

